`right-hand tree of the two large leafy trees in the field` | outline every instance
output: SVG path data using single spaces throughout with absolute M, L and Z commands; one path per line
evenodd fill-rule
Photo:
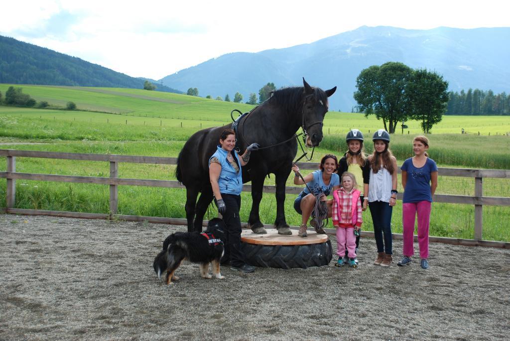
M 432 126 L 441 122 L 446 111 L 448 82 L 436 72 L 418 69 L 413 72 L 412 82 L 406 91 L 412 103 L 411 118 L 420 122 L 423 133 L 429 134 Z

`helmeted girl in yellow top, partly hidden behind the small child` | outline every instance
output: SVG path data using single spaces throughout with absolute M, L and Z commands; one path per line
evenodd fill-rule
M 362 203 L 362 209 L 367 209 L 367 195 L 368 195 L 368 182 L 370 180 L 370 167 L 368 164 L 365 149 L 363 148 L 363 134 L 358 129 L 352 129 L 347 133 L 345 137 L 347 142 L 347 152 L 338 163 L 337 173 L 342 176 L 344 172 L 354 174 L 356 182 L 358 183 L 358 190 L 361 192 L 360 200 Z M 360 247 L 360 231 L 361 228 L 356 230 L 356 249 L 355 252 L 358 254 L 358 248 Z M 343 257 L 344 263 L 348 261 L 347 251 L 345 255 L 338 255 L 339 260 Z M 358 258 L 355 258 L 356 264 L 358 264 Z

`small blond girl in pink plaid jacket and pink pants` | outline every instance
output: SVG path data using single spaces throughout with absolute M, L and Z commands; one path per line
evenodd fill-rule
M 335 264 L 341 267 L 346 262 L 343 260 L 345 255 L 345 245 L 347 245 L 349 266 L 357 267 L 356 264 L 356 235 L 363 223 L 362 205 L 360 201 L 361 192 L 356 189 L 358 184 L 354 174 L 344 172 L 340 182 L 340 189 L 333 192 L 333 225 L 337 227 L 337 255 L 338 261 Z

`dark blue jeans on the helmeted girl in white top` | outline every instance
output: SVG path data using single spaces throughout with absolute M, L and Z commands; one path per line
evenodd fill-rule
M 391 234 L 391 213 L 393 212 L 393 207 L 385 201 L 369 202 L 368 207 L 370 208 L 370 215 L 374 224 L 377 252 L 384 251 L 386 254 L 393 254 L 393 236 Z

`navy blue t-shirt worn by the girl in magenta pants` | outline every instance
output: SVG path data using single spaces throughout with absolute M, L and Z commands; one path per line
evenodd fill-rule
M 413 158 L 409 158 L 404 161 L 400 169 L 407 172 L 407 182 L 405 183 L 402 202 L 419 202 L 424 200 L 432 202 L 430 173 L 438 171 L 436 162 L 427 158 L 423 167 L 416 168 L 413 165 Z

